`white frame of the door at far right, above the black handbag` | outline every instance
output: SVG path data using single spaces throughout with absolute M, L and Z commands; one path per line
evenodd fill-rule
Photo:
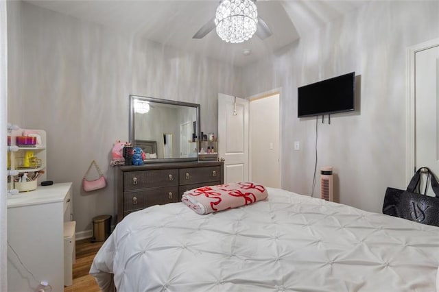
M 416 171 L 416 53 L 439 46 L 439 38 L 407 48 L 407 162 L 405 180 Z

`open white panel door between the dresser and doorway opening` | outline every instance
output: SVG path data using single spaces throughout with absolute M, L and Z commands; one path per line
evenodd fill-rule
M 218 155 L 224 183 L 248 181 L 248 100 L 218 94 Z

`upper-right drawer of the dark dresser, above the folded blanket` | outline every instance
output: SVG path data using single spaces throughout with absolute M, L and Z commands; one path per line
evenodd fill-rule
M 218 180 L 221 180 L 221 167 L 180 169 L 180 185 L 216 182 Z

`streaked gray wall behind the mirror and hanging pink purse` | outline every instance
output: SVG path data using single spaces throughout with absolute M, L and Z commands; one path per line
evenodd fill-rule
M 124 36 L 70 16 L 8 2 L 10 121 L 47 131 L 47 178 L 73 182 L 77 232 L 97 215 L 117 213 L 116 140 L 128 141 L 128 96 L 201 104 L 201 129 L 217 132 L 217 95 L 240 94 L 234 66 Z M 95 159 L 107 188 L 84 193 Z

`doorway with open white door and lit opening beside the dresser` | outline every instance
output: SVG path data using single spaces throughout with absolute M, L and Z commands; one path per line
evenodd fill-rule
M 224 183 L 251 180 L 281 187 L 279 112 L 279 92 L 249 99 L 218 95 L 218 155 L 225 159 Z

